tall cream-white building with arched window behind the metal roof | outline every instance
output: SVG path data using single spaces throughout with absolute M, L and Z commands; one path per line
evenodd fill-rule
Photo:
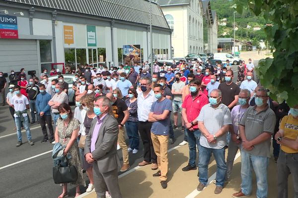
M 201 53 L 203 48 L 203 12 L 201 0 L 158 0 L 173 30 L 172 50 L 175 57 Z

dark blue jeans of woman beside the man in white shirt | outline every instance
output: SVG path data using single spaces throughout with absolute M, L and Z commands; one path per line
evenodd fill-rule
M 127 121 L 125 123 L 126 133 L 129 138 L 129 147 L 139 150 L 139 122 Z

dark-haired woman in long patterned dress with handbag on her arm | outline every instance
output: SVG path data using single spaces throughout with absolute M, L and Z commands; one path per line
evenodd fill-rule
M 63 151 L 64 155 L 68 153 L 71 155 L 71 158 L 68 160 L 69 165 L 74 166 L 77 171 L 77 180 L 71 184 L 76 185 L 75 197 L 78 197 L 80 195 L 79 185 L 86 186 L 76 141 L 79 131 L 79 122 L 74 118 L 70 105 L 62 103 L 58 110 L 60 118 L 57 120 L 55 140 L 56 143 L 59 140 L 59 143 L 65 148 Z M 63 193 L 58 198 L 65 198 L 67 196 L 67 183 L 65 183 L 63 184 Z

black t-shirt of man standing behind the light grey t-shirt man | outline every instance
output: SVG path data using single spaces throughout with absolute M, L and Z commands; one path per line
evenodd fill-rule
M 227 85 L 225 82 L 221 83 L 219 90 L 222 91 L 222 102 L 228 106 L 240 93 L 240 88 L 235 83 Z

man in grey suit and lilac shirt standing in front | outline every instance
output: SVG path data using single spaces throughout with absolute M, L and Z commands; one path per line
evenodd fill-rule
M 105 198 L 109 191 L 112 198 L 122 198 L 118 184 L 117 120 L 109 114 L 111 100 L 107 97 L 94 99 L 96 119 L 92 121 L 90 132 L 85 140 L 84 154 L 93 165 L 94 187 L 97 198 Z

